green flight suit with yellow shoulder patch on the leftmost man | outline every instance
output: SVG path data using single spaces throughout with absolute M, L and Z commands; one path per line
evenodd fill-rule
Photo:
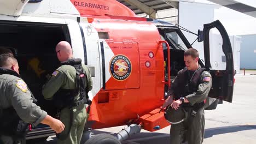
M 26 83 L 13 70 L 0 68 L 0 95 L 0 109 L 13 107 L 18 116 L 27 123 L 38 125 L 47 115 L 33 103 Z M 13 144 L 10 136 L 0 136 L 0 143 L 1 140 L 4 144 Z

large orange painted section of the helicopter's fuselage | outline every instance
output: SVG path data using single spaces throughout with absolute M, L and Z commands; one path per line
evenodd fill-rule
M 106 62 L 109 73 L 120 70 L 119 67 L 129 68 L 129 62 L 132 68 L 129 77 L 122 81 L 111 76 L 106 81 L 106 89 L 101 89 L 94 97 L 95 106 L 92 106 L 92 116 L 89 117 L 89 121 L 95 122 L 92 127 L 98 129 L 125 125 L 158 109 L 164 102 L 164 54 L 162 47 L 158 45 L 161 38 L 155 25 L 147 21 L 113 20 L 107 16 L 102 19 L 94 17 L 92 24 L 98 32 L 109 35 L 109 39 L 105 41 L 114 54 L 110 58 L 105 55 L 105 61 L 110 59 Z M 149 52 L 154 57 L 150 58 Z M 115 57 L 119 55 L 125 58 Z M 150 62 L 150 67 L 146 66 L 147 62 Z M 121 70 L 120 75 L 127 71 Z M 109 93 L 108 101 L 108 94 L 100 93 Z M 98 103 L 98 100 L 106 103 Z M 153 113 L 151 118 L 141 118 L 139 121 L 145 123 L 147 130 L 154 131 L 155 124 L 160 124 L 161 128 L 166 127 L 166 121 L 162 118 L 163 113 Z

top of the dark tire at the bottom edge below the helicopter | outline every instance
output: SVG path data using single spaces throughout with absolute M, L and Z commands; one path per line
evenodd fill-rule
M 121 142 L 110 134 L 97 134 L 92 136 L 84 144 L 121 144 Z

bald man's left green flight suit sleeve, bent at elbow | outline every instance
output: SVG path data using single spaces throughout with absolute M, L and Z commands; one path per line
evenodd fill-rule
M 67 82 L 67 75 L 61 70 L 55 70 L 42 89 L 44 99 L 53 100 L 53 95 Z

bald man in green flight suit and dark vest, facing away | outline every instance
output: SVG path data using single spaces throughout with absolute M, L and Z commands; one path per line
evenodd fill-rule
M 73 105 L 82 99 L 82 96 L 80 90 L 74 95 L 77 70 L 72 64 L 81 65 L 81 59 L 73 57 L 71 45 L 67 41 L 61 41 L 57 44 L 55 50 L 61 66 L 54 71 L 49 81 L 43 86 L 43 95 L 47 100 L 54 100 L 55 95 L 60 99 L 69 100 L 68 104 L 62 107 L 60 111 L 60 120 L 66 125 L 66 129 L 59 135 L 57 143 L 79 144 L 82 139 L 87 113 L 84 103 Z M 86 75 L 84 88 L 90 91 L 92 89 L 90 70 L 84 64 L 82 64 L 82 68 Z M 70 94 L 67 96 L 65 93 Z

